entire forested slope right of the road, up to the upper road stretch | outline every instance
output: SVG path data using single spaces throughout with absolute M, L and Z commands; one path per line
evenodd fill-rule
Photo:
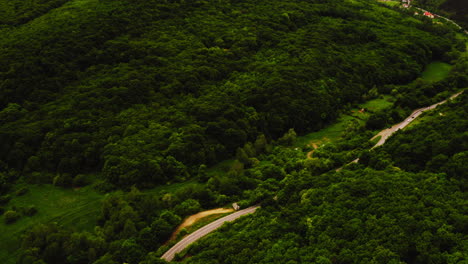
M 192 246 L 182 263 L 463 263 L 467 99 L 363 164 L 321 175 L 296 167 L 274 188 L 277 201 Z

